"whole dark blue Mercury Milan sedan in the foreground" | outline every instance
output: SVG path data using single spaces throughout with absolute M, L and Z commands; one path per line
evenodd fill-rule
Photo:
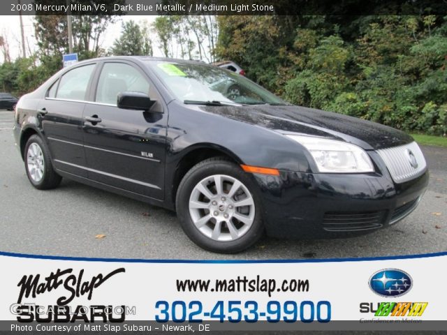
M 66 177 L 175 210 L 196 244 L 225 253 L 263 232 L 345 237 L 390 227 L 428 181 L 409 135 L 289 105 L 196 61 L 82 61 L 20 99 L 14 134 L 34 187 Z

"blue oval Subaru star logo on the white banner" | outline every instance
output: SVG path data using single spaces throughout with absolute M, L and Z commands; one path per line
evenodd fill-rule
M 369 288 L 382 297 L 400 297 L 409 292 L 412 286 L 409 274 L 398 269 L 383 269 L 369 278 Z

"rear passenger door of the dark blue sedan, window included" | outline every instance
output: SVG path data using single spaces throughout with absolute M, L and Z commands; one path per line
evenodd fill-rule
M 95 66 L 78 66 L 64 73 L 38 105 L 54 167 L 80 177 L 87 177 L 82 113 Z

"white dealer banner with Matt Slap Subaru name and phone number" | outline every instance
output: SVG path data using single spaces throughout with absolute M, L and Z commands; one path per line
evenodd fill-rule
M 447 255 L 380 260 L 106 261 L 0 255 L 0 320 L 445 321 Z

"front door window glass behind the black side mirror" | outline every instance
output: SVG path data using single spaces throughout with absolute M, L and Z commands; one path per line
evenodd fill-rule
M 117 96 L 124 91 L 149 94 L 149 82 L 129 64 L 104 64 L 96 90 L 96 102 L 117 105 Z

